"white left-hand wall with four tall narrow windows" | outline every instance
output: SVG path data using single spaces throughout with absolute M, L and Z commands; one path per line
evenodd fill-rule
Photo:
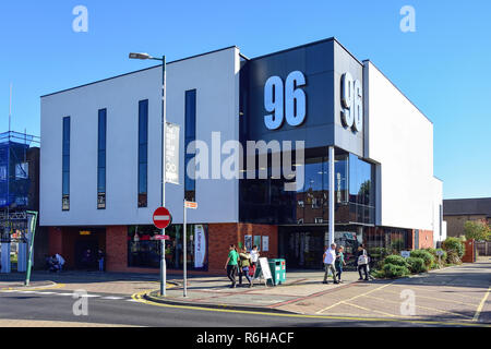
M 167 184 L 175 222 L 182 222 L 184 94 L 196 89 L 199 140 L 212 131 L 238 137 L 237 48 L 168 64 L 167 118 L 181 125 L 181 185 Z M 161 69 L 154 68 L 41 98 L 40 224 L 106 226 L 151 224 L 160 205 Z M 137 207 L 139 100 L 148 99 L 148 207 Z M 97 111 L 107 108 L 107 201 L 97 209 Z M 61 209 L 62 118 L 71 117 L 70 210 Z M 190 222 L 238 220 L 237 180 L 197 180 L 200 209 Z

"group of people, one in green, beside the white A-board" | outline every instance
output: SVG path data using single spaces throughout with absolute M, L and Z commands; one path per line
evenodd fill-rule
M 230 288 L 236 288 L 236 277 L 239 275 L 239 286 L 242 286 L 242 277 L 249 281 L 249 287 L 252 287 L 252 278 L 254 277 L 259 260 L 258 246 L 253 245 L 249 252 L 243 248 L 240 252 L 235 244 L 230 244 L 225 269 L 227 276 L 231 281 Z

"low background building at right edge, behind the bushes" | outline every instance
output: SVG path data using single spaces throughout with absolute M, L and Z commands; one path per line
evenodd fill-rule
M 491 197 L 443 201 L 443 219 L 448 237 L 462 237 L 467 220 L 486 220 L 491 225 Z

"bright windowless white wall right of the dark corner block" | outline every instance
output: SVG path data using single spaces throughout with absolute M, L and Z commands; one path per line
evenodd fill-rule
M 433 177 L 433 124 L 371 62 L 363 73 L 364 155 L 380 164 L 376 225 L 433 230 L 442 201 Z

